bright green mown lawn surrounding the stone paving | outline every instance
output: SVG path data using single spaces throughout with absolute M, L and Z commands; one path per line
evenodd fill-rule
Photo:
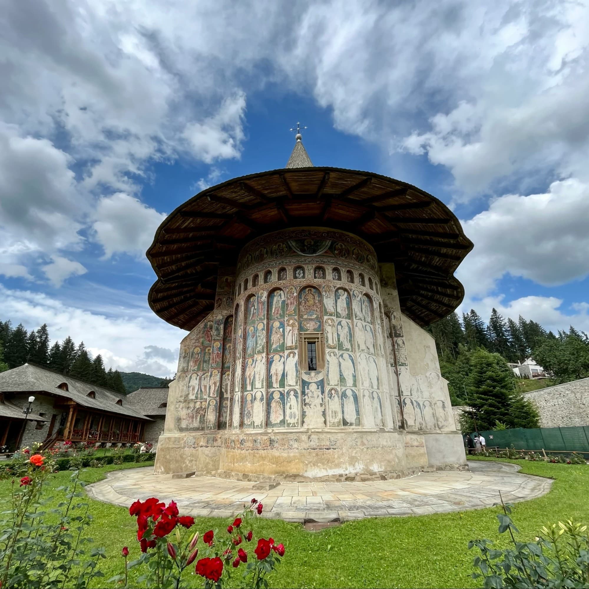
M 521 472 L 527 474 L 554 478 L 548 495 L 515 504 L 512 517 L 521 530 L 520 539 L 530 539 L 542 525 L 558 520 L 573 518 L 589 523 L 589 466 L 507 459 L 501 462 L 518 464 Z M 109 471 L 134 466 L 144 464 L 87 469 L 83 477 L 94 482 Z M 52 487 L 67 484 L 69 475 L 55 474 Z M 6 496 L 8 489 L 9 482 L 1 481 L 0 497 Z M 94 500 L 90 504 L 94 515 L 91 535 L 95 545 L 107 548 L 108 559 L 102 561 L 101 570 L 108 579 L 121 573 L 120 551 L 124 545 L 129 547 L 130 558 L 139 554 L 135 518 L 121 507 Z M 322 532 L 307 532 L 300 524 L 260 519 L 254 535 L 271 535 L 286 547 L 279 573 L 269 577 L 272 587 L 477 587 L 470 578 L 475 553 L 468 551 L 466 545 L 473 538 L 507 544 L 508 538 L 499 537 L 497 531 L 497 512 L 498 508 L 488 508 L 419 517 L 370 518 Z M 197 519 L 201 534 L 209 529 L 224 533 L 226 525 L 224 519 Z M 131 571 L 132 587 L 136 586 L 133 582 L 137 575 Z M 187 587 L 202 587 L 201 578 L 190 574 L 184 583 Z M 93 586 L 107 585 L 104 580 L 97 580 Z

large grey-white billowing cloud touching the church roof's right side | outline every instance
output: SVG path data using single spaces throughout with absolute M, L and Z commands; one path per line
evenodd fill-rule
M 490 292 L 504 274 L 544 286 L 589 275 L 589 184 L 554 182 L 545 194 L 507 194 L 462 221 L 475 247 L 456 277 L 468 296 Z

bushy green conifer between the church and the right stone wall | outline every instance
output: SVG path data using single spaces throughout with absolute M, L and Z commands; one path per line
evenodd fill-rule
M 494 429 L 497 422 L 512 426 L 512 380 L 513 372 L 501 356 L 480 349 L 472 353 L 466 388 L 478 431 Z

